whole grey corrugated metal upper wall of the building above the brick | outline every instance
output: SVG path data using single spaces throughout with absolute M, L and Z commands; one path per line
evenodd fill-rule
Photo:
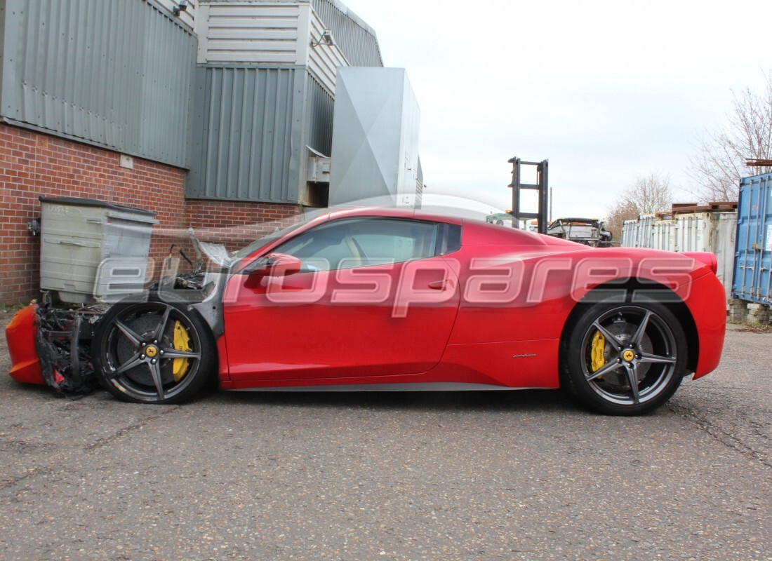
M 302 200 L 305 146 L 330 154 L 331 72 L 345 63 L 326 49 L 340 47 L 353 65 L 382 66 L 374 32 L 337 0 L 276 2 L 266 6 L 273 9 L 265 12 L 270 21 L 252 22 L 266 34 L 259 67 L 244 54 L 254 50 L 254 29 L 244 29 L 244 18 L 233 12 L 250 2 L 239 8 L 238 2 L 194 1 L 178 18 L 170 12 L 174 3 L 0 0 L 7 19 L 0 36 L 0 116 L 153 161 L 192 162 L 190 197 Z M 308 38 L 300 49 L 296 14 L 299 5 L 310 12 L 309 3 L 317 12 L 314 29 L 320 18 L 337 47 L 313 49 L 301 63 L 296 54 L 307 54 Z M 212 11 L 222 17 L 212 20 Z M 198 69 L 194 15 L 196 29 L 212 24 L 209 66 Z M 272 52 L 273 65 L 266 65 Z M 218 53 L 227 53 L 221 64 L 230 68 L 212 65 Z

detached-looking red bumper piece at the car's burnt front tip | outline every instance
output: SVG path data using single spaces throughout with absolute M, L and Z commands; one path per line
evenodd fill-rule
M 36 347 L 37 309 L 37 304 L 30 304 L 19 310 L 5 328 L 5 340 L 11 355 L 11 377 L 25 384 L 45 385 Z

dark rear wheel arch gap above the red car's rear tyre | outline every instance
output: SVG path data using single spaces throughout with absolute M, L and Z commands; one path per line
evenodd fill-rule
M 602 299 L 617 299 L 618 302 L 633 302 L 636 292 L 648 299 L 655 299 L 659 304 L 669 309 L 676 319 L 679 320 L 679 324 L 686 336 L 687 347 L 687 359 L 686 368 L 689 372 L 694 372 L 697 368 L 697 360 L 699 359 L 699 333 L 697 332 L 697 326 L 689 311 L 689 307 L 672 289 L 662 285 L 659 282 L 653 282 L 651 280 L 641 279 L 628 279 L 624 283 L 619 282 L 605 282 L 604 284 L 595 286 L 587 294 L 585 294 L 581 300 L 576 302 L 574 308 L 571 309 L 571 313 L 567 316 L 566 323 L 563 326 L 563 330 L 560 333 L 560 346 L 562 348 L 564 341 L 567 340 L 567 329 L 571 325 L 572 320 L 591 303 L 599 302 Z M 622 298 L 624 294 L 624 299 Z M 560 353 L 560 357 L 564 356 L 564 353 Z M 562 367 L 560 369 L 563 370 Z

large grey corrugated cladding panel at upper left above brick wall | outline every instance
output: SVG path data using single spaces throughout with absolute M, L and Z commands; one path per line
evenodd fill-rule
M 144 0 L 6 0 L 2 116 L 180 167 L 196 39 Z

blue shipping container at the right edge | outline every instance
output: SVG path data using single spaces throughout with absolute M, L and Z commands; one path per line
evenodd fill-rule
M 740 181 L 732 297 L 772 304 L 772 174 Z

